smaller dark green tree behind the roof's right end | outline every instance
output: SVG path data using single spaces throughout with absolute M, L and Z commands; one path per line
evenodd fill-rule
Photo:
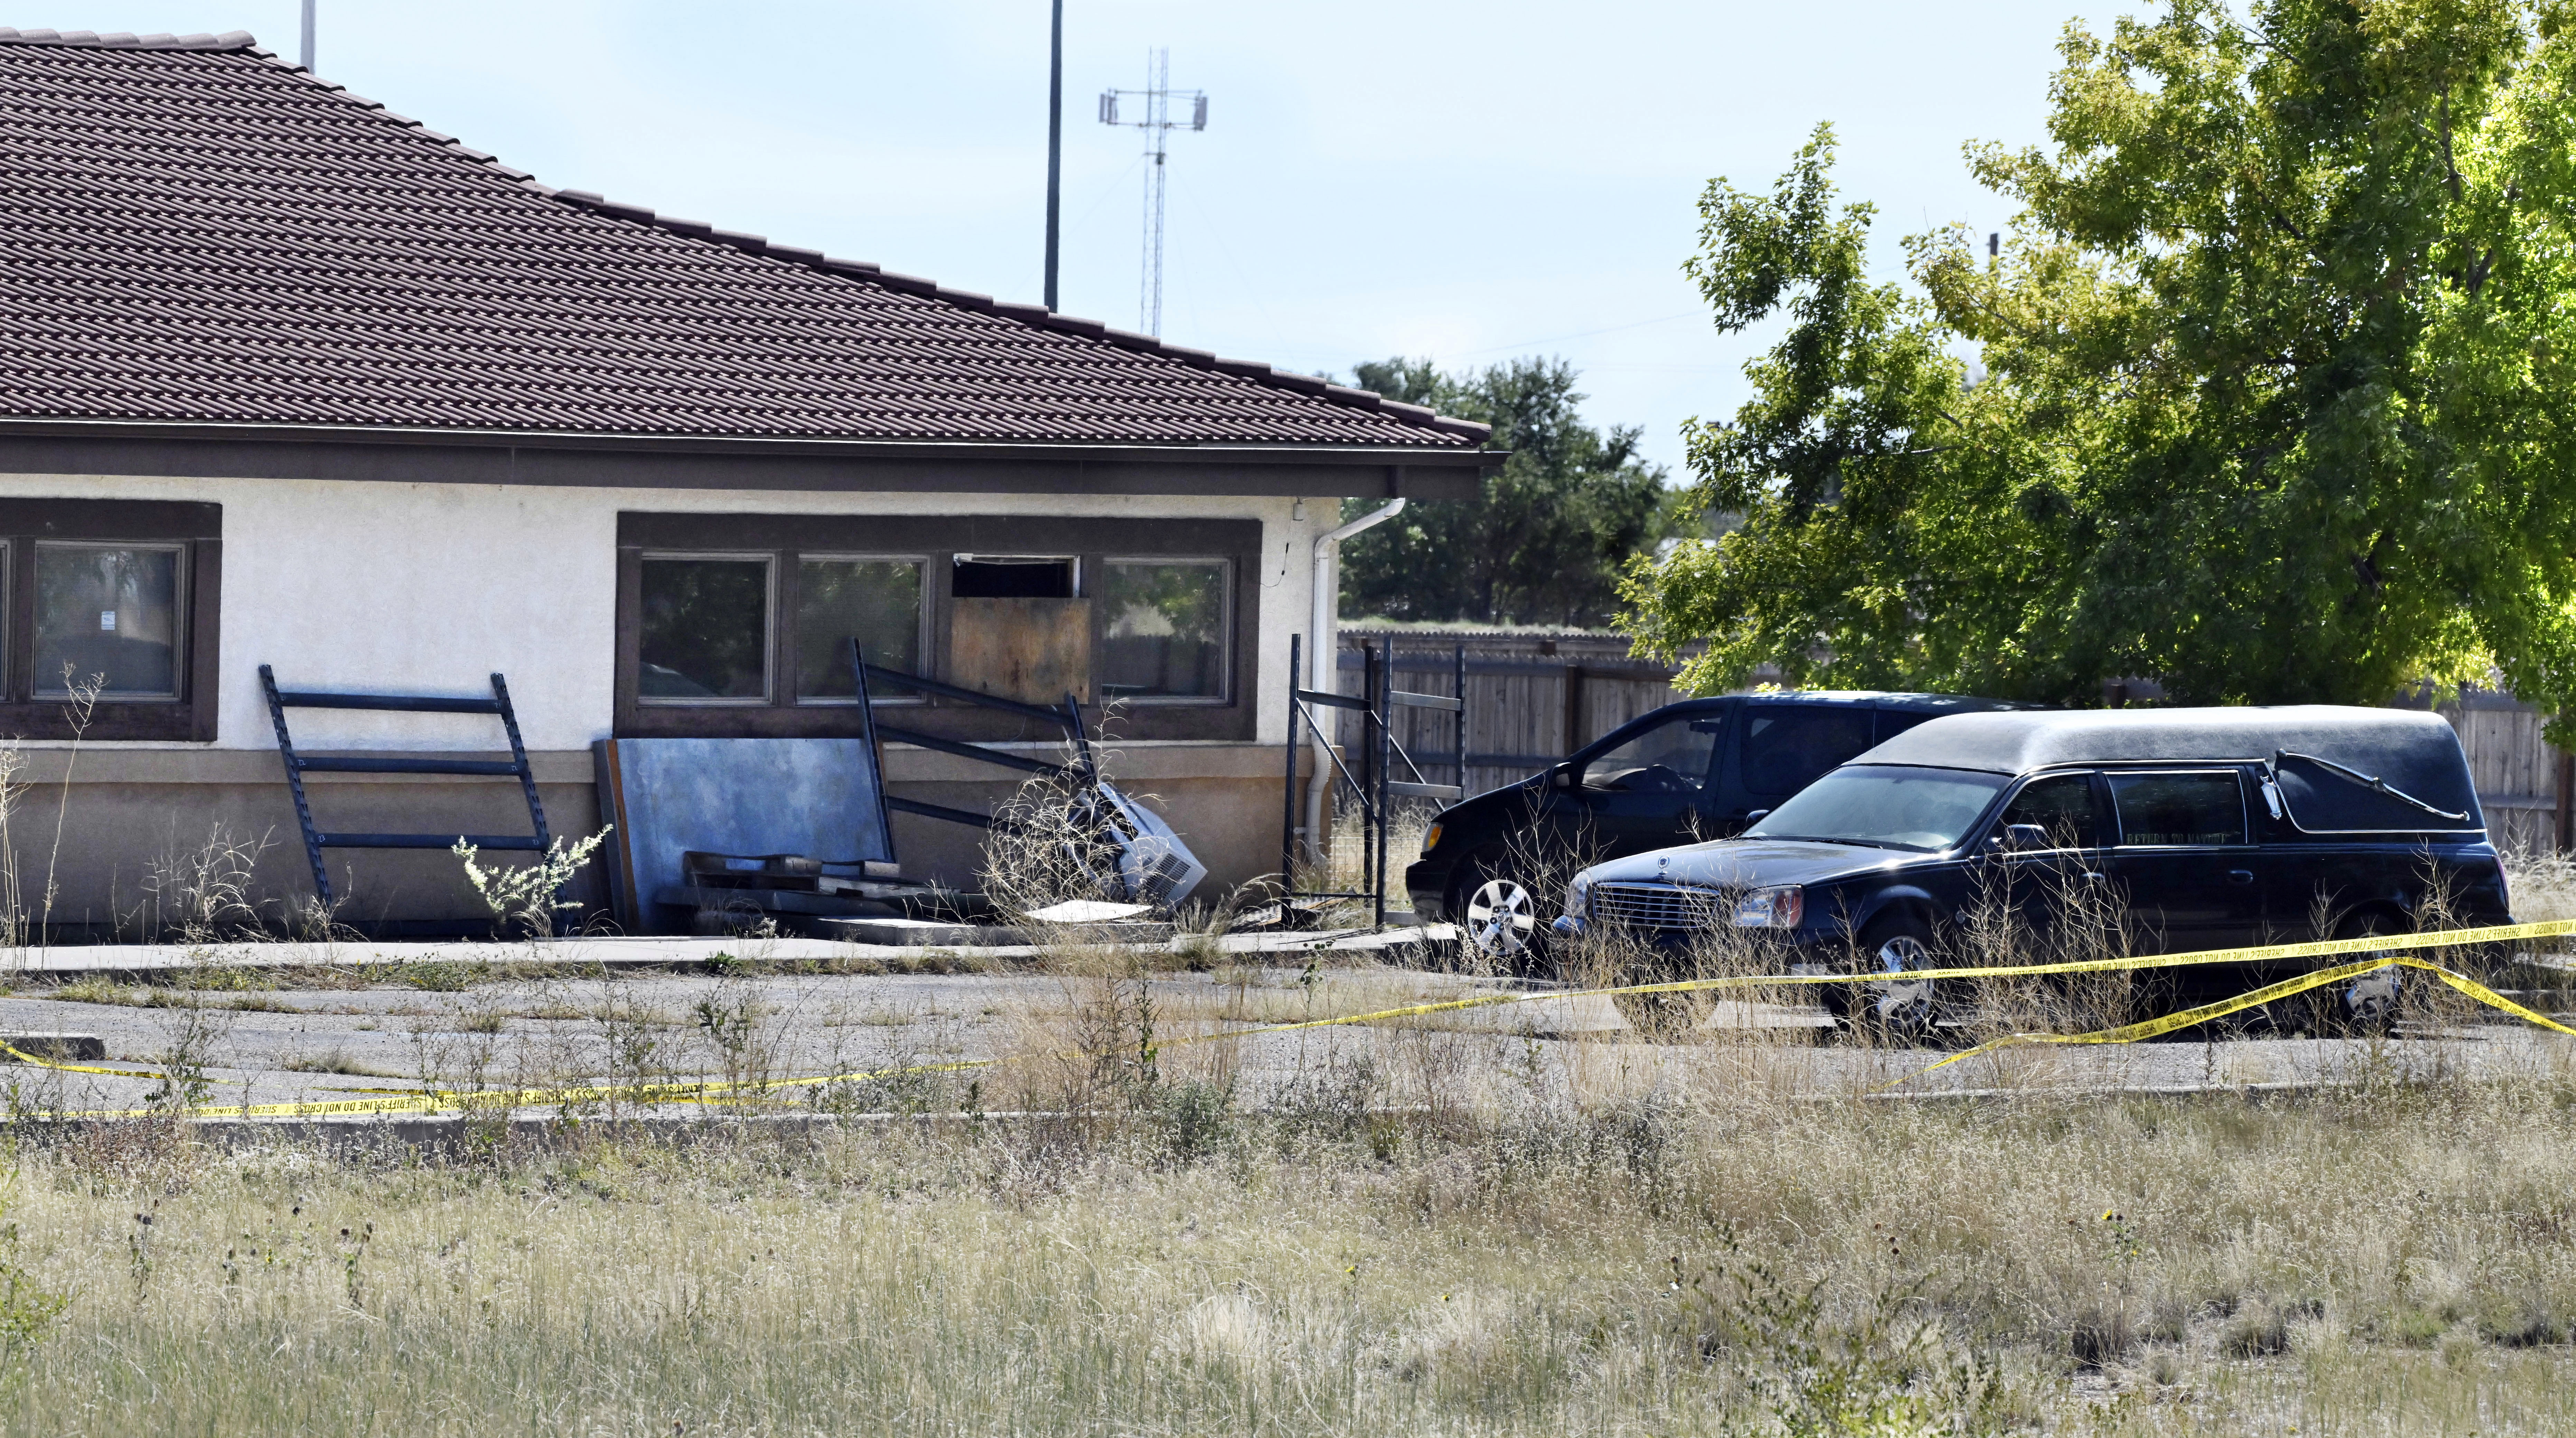
M 1358 366 L 1388 399 L 1494 425 L 1510 448 L 1476 500 L 1427 500 L 1342 541 L 1342 613 L 1412 621 L 1605 624 L 1623 564 L 1672 533 L 1664 466 L 1636 428 L 1595 430 L 1564 361 L 1440 374 L 1430 361 Z M 1345 500 L 1358 518 L 1378 500 Z

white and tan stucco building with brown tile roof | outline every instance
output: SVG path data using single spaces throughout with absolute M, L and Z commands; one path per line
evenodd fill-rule
M 1347 495 L 1473 495 L 1499 459 L 1376 394 L 551 191 L 240 34 L 0 31 L 0 732 L 57 923 L 137 915 L 219 830 L 273 840 L 268 897 L 312 889 L 260 665 L 505 673 L 554 830 L 587 832 L 592 740 L 855 732 L 850 637 L 1015 683 L 984 673 L 1028 639 L 997 595 L 1066 600 L 1023 606 L 1048 678 L 1123 701 L 1115 773 L 1249 879 L 1278 866 L 1311 539 Z M 77 760 L 67 667 L 106 675 Z M 489 719 L 294 719 L 307 753 L 495 745 Z M 1007 789 L 930 750 L 886 771 L 940 804 Z M 515 781 L 307 783 L 335 830 L 526 825 Z M 971 830 L 899 817 L 896 843 L 971 874 Z M 353 920 L 464 912 L 453 868 L 332 861 Z

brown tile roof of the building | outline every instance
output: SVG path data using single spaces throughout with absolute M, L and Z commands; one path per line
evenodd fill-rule
M 0 420 L 1473 448 L 1484 425 L 657 216 L 247 34 L 0 28 Z

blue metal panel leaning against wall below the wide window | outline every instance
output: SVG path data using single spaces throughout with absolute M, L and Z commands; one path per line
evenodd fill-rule
M 600 740 L 598 750 L 629 930 L 652 928 L 652 897 L 680 884 L 693 848 L 894 863 L 868 740 Z

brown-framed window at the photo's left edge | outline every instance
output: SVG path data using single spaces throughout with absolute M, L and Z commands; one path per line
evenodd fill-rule
M 85 737 L 214 740 L 222 505 L 0 500 L 0 727 Z

